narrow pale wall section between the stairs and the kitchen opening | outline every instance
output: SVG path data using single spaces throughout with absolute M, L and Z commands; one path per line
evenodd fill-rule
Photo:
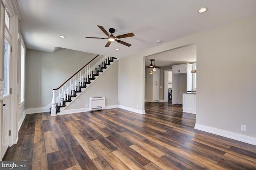
M 144 110 L 145 60 L 126 57 L 119 60 L 118 104 L 126 109 Z M 138 105 L 138 108 L 137 108 Z M 123 107 L 124 108 L 124 107 Z

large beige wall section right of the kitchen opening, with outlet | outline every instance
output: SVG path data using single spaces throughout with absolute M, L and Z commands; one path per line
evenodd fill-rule
M 254 15 L 200 34 L 197 124 L 256 137 L 255 30 Z

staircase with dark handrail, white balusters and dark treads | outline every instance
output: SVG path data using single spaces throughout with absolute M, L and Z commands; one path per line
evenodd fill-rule
M 98 76 L 104 72 L 117 58 L 97 55 L 88 64 L 78 70 L 66 82 L 53 89 L 51 116 L 57 115 L 72 103 Z M 57 98 L 55 97 L 58 94 Z M 56 102 L 58 101 L 58 102 Z

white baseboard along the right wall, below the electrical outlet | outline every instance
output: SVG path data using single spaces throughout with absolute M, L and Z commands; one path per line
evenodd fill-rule
M 195 129 L 200 130 L 200 131 L 205 131 L 205 132 L 208 132 L 208 133 L 213 133 L 215 135 L 227 137 L 227 138 L 230 138 L 230 139 L 234 139 L 236 141 L 249 143 L 251 145 L 256 145 L 256 138 L 254 138 L 254 137 L 249 137 L 249 136 L 246 136 L 246 135 L 241 135 L 241 134 L 238 134 L 238 133 L 217 129 L 217 128 L 214 128 L 214 127 L 200 125 L 200 124 L 197 124 L 197 123 L 195 124 Z

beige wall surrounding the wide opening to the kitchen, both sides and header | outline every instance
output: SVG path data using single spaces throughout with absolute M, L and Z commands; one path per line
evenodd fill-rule
M 144 101 L 142 57 L 194 43 L 198 65 L 196 124 L 253 137 L 256 145 L 255 30 L 256 15 L 120 60 L 118 102 L 136 108 Z M 240 131 L 241 124 L 247 125 L 247 132 Z

